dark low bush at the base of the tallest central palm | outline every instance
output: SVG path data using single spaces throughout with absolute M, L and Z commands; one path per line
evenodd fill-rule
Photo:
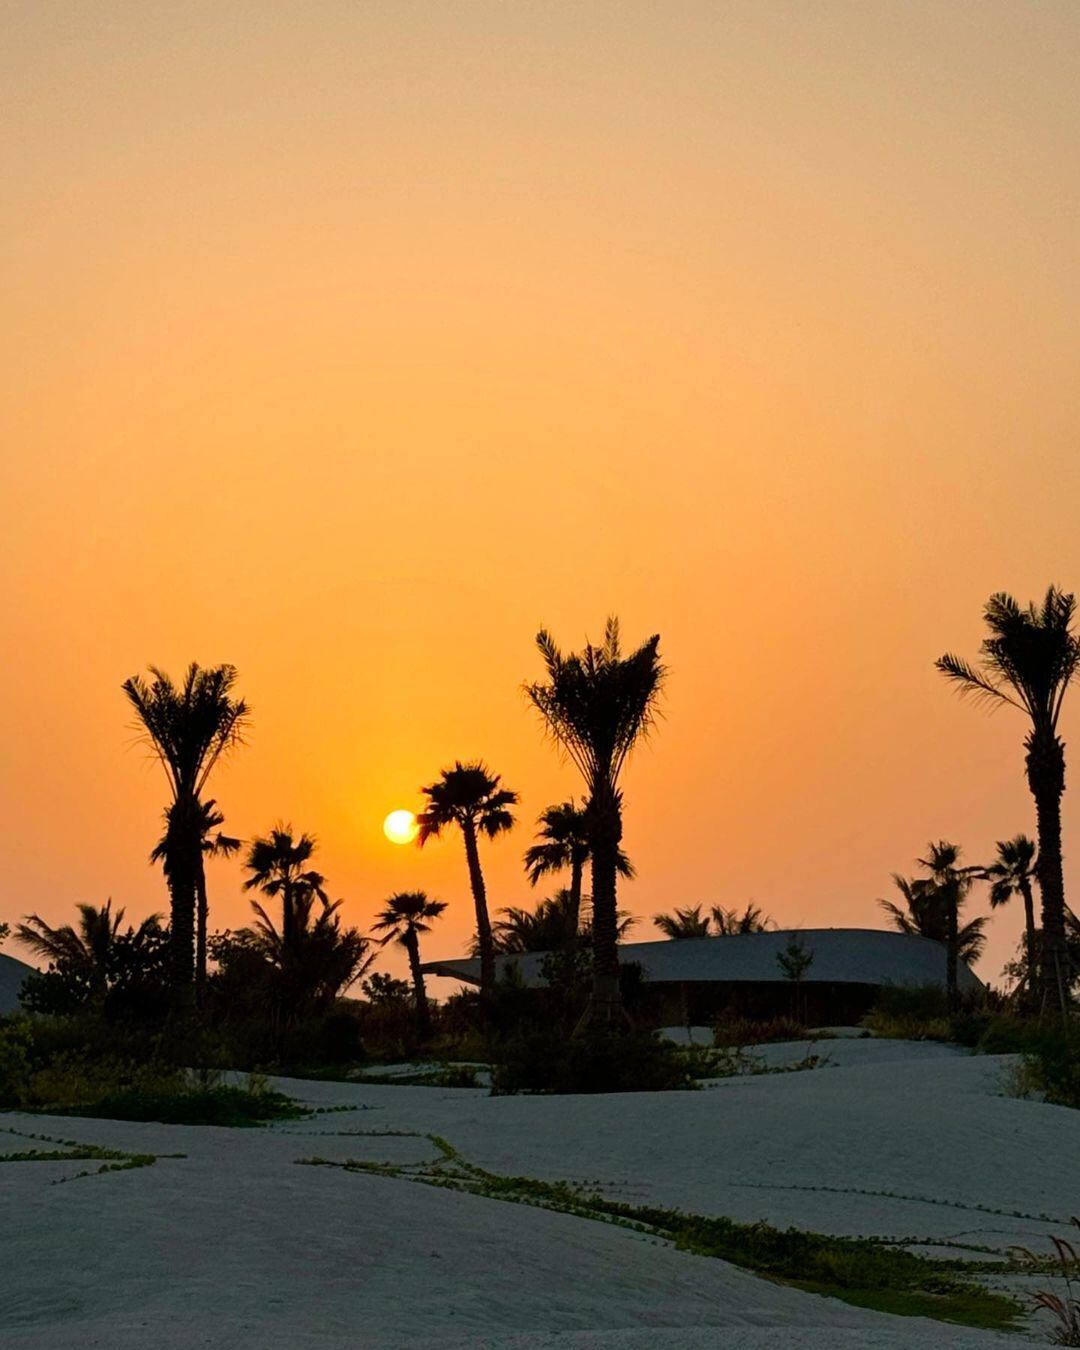
M 651 1031 L 586 1037 L 524 1031 L 494 1048 L 491 1095 L 693 1088 L 684 1057 Z

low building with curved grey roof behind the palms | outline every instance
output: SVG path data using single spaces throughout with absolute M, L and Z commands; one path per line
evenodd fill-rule
M 641 968 L 648 1021 L 656 1025 L 707 1023 L 717 1017 L 790 1017 L 792 983 L 778 957 L 795 938 L 811 957 L 799 983 L 799 1014 L 813 1026 L 849 1026 L 863 1018 L 882 990 L 945 988 L 945 946 L 925 937 L 883 929 L 778 929 L 730 937 L 624 942 L 620 960 Z M 528 988 L 543 988 L 547 953 L 497 959 L 500 976 L 516 967 Z M 479 984 L 479 961 L 429 961 L 428 975 Z M 983 990 L 963 961 L 961 994 Z

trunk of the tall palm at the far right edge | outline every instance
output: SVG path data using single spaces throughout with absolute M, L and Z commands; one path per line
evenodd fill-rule
M 1065 747 L 1053 733 L 1031 733 L 1027 742 L 1027 784 L 1035 799 L 1038 861 L 1042 892 L 1042 961 L 1038 992 L 1042 1006 L 1053 1000 L 1068 1011 L 1069 953 L 1065 938 L 1065 878 L 1061 865 L 1061 795 L 1065 791 Z

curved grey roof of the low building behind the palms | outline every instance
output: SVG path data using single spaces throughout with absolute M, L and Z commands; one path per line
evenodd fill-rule
M 945 986 L 945 946 L 909 933 L 884 929 L 778 929 L 768 933 L 736 933 L 729 937 L 690 937 L 659 942 L 622 942 L 622 964 L 637 963 L 651 984 L 783 983 L 776 963 L 791 937 L 798 937 L 814 960 L 803 976 L 806 984 L 899 984 Z M 529 987 L 544 984 L 540 967 L 545 952 L 495 959 L 498 975 L 517 965 Z M 479 984 L 474 959 L 428 961 L 428 975 L 444 975 L 466 984 Z M 980 990 L 981 980 L 960 963 L 961 990 Z

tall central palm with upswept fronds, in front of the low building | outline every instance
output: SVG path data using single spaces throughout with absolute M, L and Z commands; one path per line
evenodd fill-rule
M 659 634 L 622 655 L 618 620 L 609 618 L 603 643 L 564 656 L 541 629 L 536 645 L 545 683 L 525 686 L 549 734 L 576 765 L 589 792 L 593 846 L 593 998 L 582 1025 L 624 1021 L 618 987 L 617 887 L 622 841 L 620 775 L 634 745 L 652 728 L 664 682 Z

